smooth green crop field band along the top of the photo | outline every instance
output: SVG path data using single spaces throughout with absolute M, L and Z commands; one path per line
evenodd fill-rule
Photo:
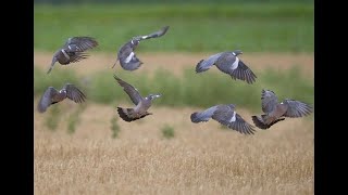
M 313 52 L 313 3 L 35 5 L 34 47 L 53 51 L 72 36 L 114 52 L 134 36 L 171 26 L 139 51 Z M 164 40 L 165 39 L 165 40 Z

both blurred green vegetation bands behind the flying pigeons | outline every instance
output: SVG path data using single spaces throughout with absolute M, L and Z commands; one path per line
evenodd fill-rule
M 94 52 L 116 54 L 132 37 L 152 32 L 165 25 L 170 30 L 161 44 L 147 41 L 137 48 L 137 52 L 213 53 L 241 49 L 245 53 L 313 54 L 314 51 L 314 2 L 309 0 L 133 0 L 132 4 L 125 0 L 34 2 L 35 52 L 53 54 L 69 37 L 91 36 L 100 43 Z M 274 90 L 281 100 L 293 98 L 314 102 L 313 79 L 301 74 L 301 64 L 286 72 L 256 72 L 258 80 L 254 84 L 233 81 L 222 73 L 207 72 L 195 77 L 195 65 L 187 65 L 191 68 L 183 78 L 172 75 L 170 69 L 159 70 L 153 77 L 136 72 L 121 72 L 119 76 L 141 89 L 144 95 L 157 91 L 167 94 L 157 101 L 157 105 L 207 107 L 216 103 L 235 103 L 260 110 L 263 88 Z M 91 75 L 88 88 L 69 69 L 55 68 L 53 72 L 47 76 L 46 69 L 34 68 L 35 96 L 41 95 L 48 86 L 61 88 L 69 80 L 85 88 L 90 101 L 104 104 L 128 101 L 128 96 L 117 90 L 112 72 Z

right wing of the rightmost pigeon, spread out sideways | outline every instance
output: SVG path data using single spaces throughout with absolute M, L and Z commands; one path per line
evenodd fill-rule
M 286 99 L 283 103 L 287 105 L 286 117 L 297 118 L 312 113 L 312 107 L 303 102 Z

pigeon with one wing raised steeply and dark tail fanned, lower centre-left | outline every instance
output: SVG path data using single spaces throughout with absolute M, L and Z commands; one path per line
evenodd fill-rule
M 133 86 L 123 81 L 116 75 L 114 75 L 114 78 L 117 80 L 119 84 L 123 87 L 123 90 L 129 95 L 132 102 L 136 105 L 134 108 L 117 107 L 117 113 L 123 120 L 130 122 L 148 115 L 152 115 L 152 113 L 148 113 L 148 109 L 151 106 L 152 100 L 160 98 L 161 94 L 149 94 L 148 96 L 142 98 L 138 90 Z

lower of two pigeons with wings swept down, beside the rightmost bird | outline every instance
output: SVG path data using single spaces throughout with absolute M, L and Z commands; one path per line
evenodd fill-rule
M 190 118 L 195 123 L 202 121 L 206 122 L 212 118 L 227 128 L 236 130 L 243 134 L 253 134 L 256 131 L 253 126 L 248 123 L 236 113 L 234 104 L 215 105 L 203 112 L 192 113 Z

